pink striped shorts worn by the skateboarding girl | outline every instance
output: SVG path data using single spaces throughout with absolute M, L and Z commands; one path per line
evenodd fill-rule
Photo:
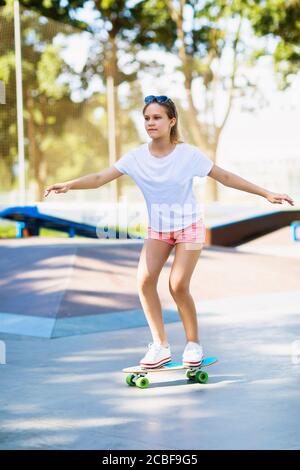
M 148 227 L 148 236 L 146 239 L 162 240 L 169 245 L 176 243 L 202 243 L 205 242 L 205 225 L 202 219 L 197 220 L 188 227 L 184 227 L 174 232 L 156 232 L 153 228 Z

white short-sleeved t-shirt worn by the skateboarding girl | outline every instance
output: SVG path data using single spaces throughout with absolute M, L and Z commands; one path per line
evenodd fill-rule
M 177 144 L 168 155 L 155 157 L 146 143 L 127 152 L 114 166 L 141 189 L 152 229 L 175 231 L 201 218 L 193 177 L 207 176 L 213 161 L 194 145 Z

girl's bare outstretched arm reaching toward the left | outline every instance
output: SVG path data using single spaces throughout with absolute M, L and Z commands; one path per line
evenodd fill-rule
M 52 184 L 45 189 L 44 197 L 47 197 L 51 191 L 54 191 L 56 194 L 60 194 L 68 192 L 69 189 L 96 189 L 122 175 L 123 173 L 117 170 L 114 166 L 111 166 L 109 168 L 105 168 L 100 173 L 91 173 L 90 175 L 81 176 L 75 180 Z

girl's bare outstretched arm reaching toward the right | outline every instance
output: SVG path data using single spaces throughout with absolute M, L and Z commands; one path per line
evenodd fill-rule
M 294 205 L 293 199 L 287 194 L 279 194 L 268 191 L 267 189 L 250 183 L 250 181 L 241 178 L 235 173 L 224 170 L 217 165 L 213 165 L 211 171 L 208 173 L 208 176 L 214 178 L 216 181 L 219 181 L 219 183 L 222 183 L 224 186 L 228 186 L 229 188 L 239 189 L 240 191 L 263 196 L 273 204 L 282 204 L 283 201 L 287 201 L 291 206 Z

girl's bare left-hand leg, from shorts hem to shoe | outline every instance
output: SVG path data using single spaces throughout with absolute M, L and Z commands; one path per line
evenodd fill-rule
M 161 303 L 157 292 L 160 272 L 173 246 L 161 240 L 146 239 L 137 271 L 139 298 L 154 342 L 167 345 Z

